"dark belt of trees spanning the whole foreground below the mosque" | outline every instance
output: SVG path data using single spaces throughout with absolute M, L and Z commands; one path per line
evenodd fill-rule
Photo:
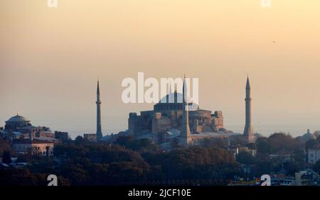
M 206 182 L 226 184 L 228 179 L 260 177 L 261 174 L 285 170 L 294 174 L 305 165 L 305 145 L 319 145 L 319 140 L 304 144 L 299 138 L 274 133 L 246 144 L 257 155 L 240 152 L 236 157 L 228 145 L 242 144 L 242 138 L 229 143 L 222 139 L 206 139 L 202 146 L 176 148 L 162 152 L 149 140 L 121 136 L 113 144 L 75 141 L 55 145 L 54 158 L 19 157 L 30 163 L 26 169 L 0 170 L 0 184 L 46 185 L 48 174 L 56 174 L 60 185 L 169 184 L 172 182 Z M 243 144 L 242 144 L 243 145 Z M 270 159 L 269 155 L 287 151 L 292 159 Z M 250 166 L 244 172 L 243 166 Z M 320 162 L 314 167 L 320 171 Z

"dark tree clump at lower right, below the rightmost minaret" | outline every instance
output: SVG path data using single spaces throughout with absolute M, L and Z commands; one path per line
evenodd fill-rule
M 270 174 L 270 172 L 286 172 L 294 175 L 294 172 L 304 170 L 306 165 L 305 143 L 299 138 L 292 138 L 285 133 L 274 133 L 268 138 L 257 138 L 251 148 L 257 150 L 257 156 L 253 157 L 248 152 L 240 152 L 236 160 L 245 165 L 252 165 L 248 176 Z M 279 155 L 271 158 L 270 155 Z M 285 155 L 290 155 L 284 158 Z

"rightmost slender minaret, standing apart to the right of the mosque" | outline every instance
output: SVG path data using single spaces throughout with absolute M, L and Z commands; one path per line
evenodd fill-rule
M 251 113 L 251 94 L 250 94 L 250 82 L 249 77 L 247 77 L 247 85 L 245 86 L 245 130 L 243 135 L 250 143 L 255 140 L 255 135 L 253 133 L 253 128 L 251 124 L 252 113 Z

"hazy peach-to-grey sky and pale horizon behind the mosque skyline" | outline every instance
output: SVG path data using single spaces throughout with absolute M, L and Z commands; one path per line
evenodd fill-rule
M 0 2 L 0 126 L 16 115 L 35 126 L 95 133 L 127 129 L 122 79 L 196 77 L 201 109 L 223 111 L 242 133 L 245 82 L 255 132 L 320 130 L 320 1 L 46 0 Z

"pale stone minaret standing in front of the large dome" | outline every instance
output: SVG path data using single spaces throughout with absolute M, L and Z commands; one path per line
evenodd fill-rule
M 186 75 L 183 79 L 183 89 L 182 89 L 182 96 L 183 96 L 183 104 L 182 104 L 182 128 L 181 128 L 181 135 L 179 144 L 183 145 L 184 147 L 188 147 L 192 143 L 191 132 L 189 128 L 189 113 L 188 113 L 188 94 L 187 94 L 187 86 L 186 86 Z

